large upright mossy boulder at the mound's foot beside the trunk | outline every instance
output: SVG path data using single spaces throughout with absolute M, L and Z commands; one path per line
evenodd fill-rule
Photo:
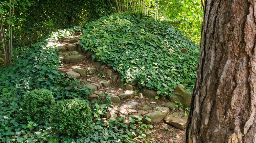
M 184 107 L 187 108 L 190 106 L 190 99 L 191 99 L 191 94 L 189 92 L 187 92 L 184 88 L 182 88 L 179 85 L 175 87 L 175 90 L 172 93 L 172 98 L 171 98 L 173 102 L 178 101 Z

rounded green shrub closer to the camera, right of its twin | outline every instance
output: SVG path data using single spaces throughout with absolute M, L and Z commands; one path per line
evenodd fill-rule
M 93 132 L 92 113 L 87 102 L 79 99 L 59 101 L 50 118 L 53 132 L 89 136 Z

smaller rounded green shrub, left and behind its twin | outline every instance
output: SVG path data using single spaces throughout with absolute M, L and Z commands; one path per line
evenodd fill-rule
M 51 91 L 32 90 L 24 95 L 21 116 L 27 121 L 44 121 L 50 116 L 54 106 L 55 100 Z

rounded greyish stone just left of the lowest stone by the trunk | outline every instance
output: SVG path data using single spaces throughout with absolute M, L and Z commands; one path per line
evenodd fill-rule
M 146 120 L 146 117 L 150 118 L 151 121 L 149 120 Z M 161 112 L 161 111 L 154 111 L 154 112 L 151 112 L 151 113 L 148 113 L 144 116 L 144 123 L 146 124 L 151 124 L 151 123 L 155 123 L 155 122 L 159 122 L 161 120 L 164 119 L 164 117 L 166 117 L 166 114 Z

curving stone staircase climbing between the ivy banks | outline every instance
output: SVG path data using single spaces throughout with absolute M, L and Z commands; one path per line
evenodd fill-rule
M 60 41 L 56 48 L 60 52 L 61 69 L 65 73 L 85 83 L 90 92 L 90 104 L 96 103 L 99 94 L 108 94 L 115 105 L 111 113 L 118 113 L 126 118 L 144 118 L 144 123 L 156 123 L 165 120 L 178 129 L 184 129 L 187 117 L 175 111 L 175 103 L 166 99 L 155 100 L 156 91 L 143 87 L 140 91 L 136 82 L 120 81 L 118 73 L 110 64 L 97 61 L 93 51 L 83 50 L 77 42 L 79 35 Z M 135 92 L 136 91 L 136 92 Z M 138 92 L 139 91 L 139 92 Z M 118 104 L 117 104 L 118 103 Z M 100 107 L 104 108 L 104 104 Z M 110 115 L 111 116 L 111 115 Z M 148 117 L 151 121 L 145 120 Z

